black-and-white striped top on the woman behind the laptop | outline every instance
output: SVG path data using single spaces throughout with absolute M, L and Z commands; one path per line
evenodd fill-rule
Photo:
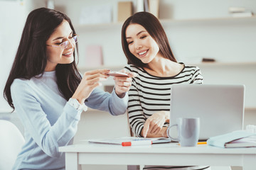
M 201 70 L 186 64 L 174 77 L 156 77 L 133 64 L 128 64 L 124 69 L 138 74 L 132 79 L 128 102 L 129 124 L 138 137 L 142 137 L 140 134 L 149 116 L 157 111 L 170 111 L 172 84 L 203 84 Z M 168 127 L 169 123 L 164 126 Z

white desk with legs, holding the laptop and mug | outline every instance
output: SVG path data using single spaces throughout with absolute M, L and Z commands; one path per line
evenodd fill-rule
M 179 147 L 175 143 L 122 147 L 81 142 L 59 151 L 65 152 L 66 170 L 81 169 L 81 164 L 256 167 L 256 148 Z

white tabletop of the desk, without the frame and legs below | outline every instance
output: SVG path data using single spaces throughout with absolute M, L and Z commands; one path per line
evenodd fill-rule
M 154 144 L 148 146 L 122 147 L 121 145 L 92 144 L 80 142 L 75 145 L 59 147 L 60 152 L 95 152 L 95 153 L 191 153 L 191 154 L 255 154 L 256 147 L 220 148 L 208 145 L 196 147 L 180 147 L 176 143 Z

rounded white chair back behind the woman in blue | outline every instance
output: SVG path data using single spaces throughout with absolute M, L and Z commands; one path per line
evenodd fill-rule
M 0 169 L 9 170 L 25 140 L 16 125 L 7 120 L 0 120 L 0 137 Z

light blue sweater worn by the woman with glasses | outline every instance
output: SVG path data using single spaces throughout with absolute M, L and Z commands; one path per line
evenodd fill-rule
M 82 111 L 76 111 L 60 94 L 55 71 L 41 78 L 15 79 L 11 97 L 25 137 L 13 169 L 65 169 L 65 154 L 58 147 L 73 143 Z M 120 115 L 127 102 L 127 94 L 119 98 L 114 91 L 95 89 L 85 105 Z

